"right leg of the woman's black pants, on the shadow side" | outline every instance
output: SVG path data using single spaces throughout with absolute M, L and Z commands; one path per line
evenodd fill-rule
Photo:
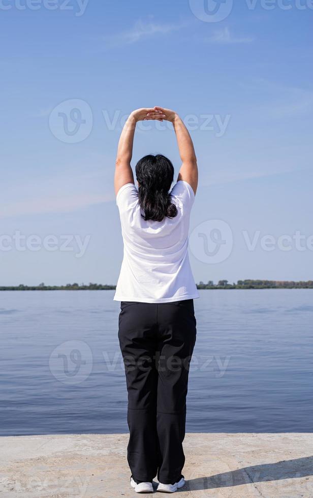
M 182 442 L 186 395 L 189 364 L 196 341 L 193 300 L 158 304 L 158 334 L 158 479 L 164 484 L 171 484 L 180 480 L 185 462 Z

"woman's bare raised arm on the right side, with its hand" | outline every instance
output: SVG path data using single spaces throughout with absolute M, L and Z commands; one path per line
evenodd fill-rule
M 164 109 L 163 107 L 154 107 L 154 110 L 158 112 L 161 111 L 163 115 L 165 115 L 164 119 L 173 123 L 179 155 L 182 162 L 177 181 L 184 180 L 189 183 L 196 194 L 198 186 L 198 166 L 194 144 L 189 131 L 186 129 L 183 120 L 176 112 L 170 109 Z M 150 112 L 148 115 L 150 115 Z

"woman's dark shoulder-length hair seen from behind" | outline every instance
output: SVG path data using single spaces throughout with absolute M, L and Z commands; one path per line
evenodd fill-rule
M 177 208 L 169 194 L 174 178 L 171 161 L 162 154 L 145 155 L 136 164 L 136 176 L 144 220 L 162 222 L 165 216 L 174 218 Z

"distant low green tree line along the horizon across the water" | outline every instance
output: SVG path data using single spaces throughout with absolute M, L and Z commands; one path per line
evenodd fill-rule
M 313 280 L 300 281 L 277 281 L 277 280 L 238 280 L 230 284 L 228 280 L 219 280 L 214 284 L 209 280 L 207 284 L 199 282 L 198 289 L 313 289 Z M 66 284 L 62 286 L 49 286 L 44 283 L 38 286 L 0 286 L 0 291 L 107 291 L 115 290 L 115 285 L 108 284 Z

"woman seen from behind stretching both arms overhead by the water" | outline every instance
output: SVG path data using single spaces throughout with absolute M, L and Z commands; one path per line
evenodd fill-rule
M 173 123 L 182 165 L 146 155 L 131 168 L 137 121 Z M 128 462 L 136 492 L 174 492 L 185 482 L 189 363 L 196 340 L 193 299 L 199 297 L 187 253 L 190 211 L 198 184 L 193 142 L 180 117 L 154 107 L 131 113 L 120 136 L 114 186 L 124 254 L 114 299 L 121 301 L 118 338 L 126 371 Z

